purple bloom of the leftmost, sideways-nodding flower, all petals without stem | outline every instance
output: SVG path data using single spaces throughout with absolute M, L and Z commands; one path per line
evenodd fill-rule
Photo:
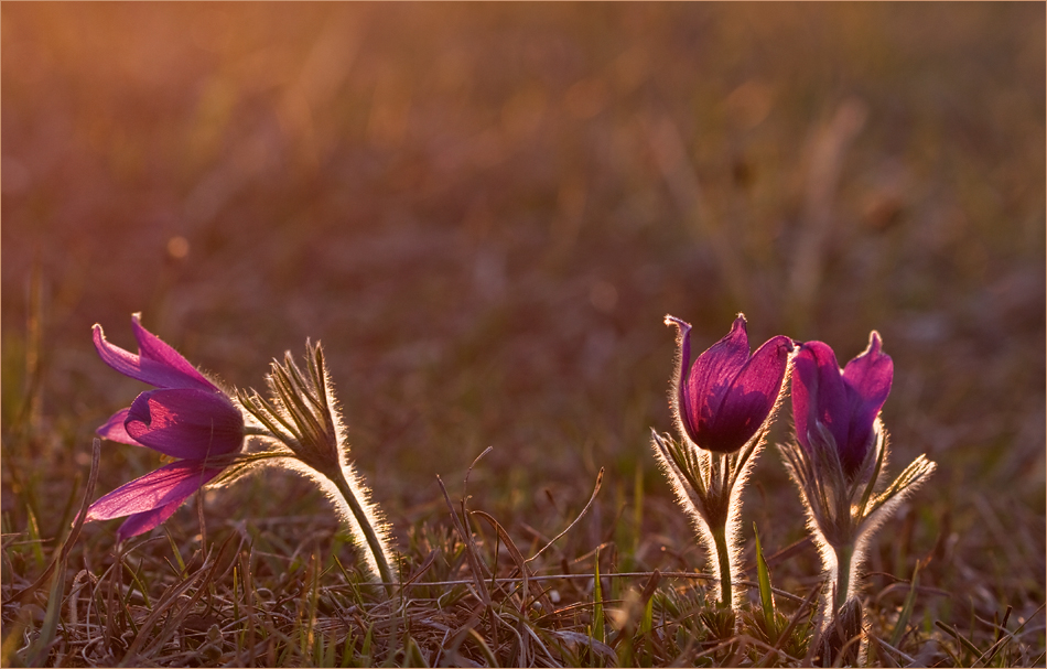
M 95 325 L 95 348 L 107 365 L 156 387 L 139 395 L 98 428 L 105 439 L 147 446 L 180 458 L 120 486 L 87 510 L 86 520 L 129 516 L 119 540 L 141 535 L 166 520 L 193 493 L 222 473 L 217 456 L 240 450 L 244 417 L 233 401 L 188 360 L 131 317 L 138 339 L 134 355 L 106 341 Z

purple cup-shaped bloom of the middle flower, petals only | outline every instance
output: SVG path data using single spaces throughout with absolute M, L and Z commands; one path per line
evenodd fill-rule
M 672 316 L 666 316 L 666 324 L 680 330 L 677 403 L 684 432 L 702 449 L 737 451 L 756 434 L 778 401 L 792 339 L 771 337 L 749 355 L 745 316 L 740 314 L 727 336 L 692 365 L 691 325 Z

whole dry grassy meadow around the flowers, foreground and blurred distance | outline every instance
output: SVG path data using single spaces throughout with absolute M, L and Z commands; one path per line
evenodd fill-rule
M 4 3 L 0 661 L 797 665 L 819 562 L 777 453 L 722 634 L 648 445 L 665 314 L 700 350 L 743 311 L 754 344 L 843 359 L 878 330 L 892 472 L 938 463 L 871 547 L 868 663 L 1044 666 L 1043 25 L 1035 3 Z M 241 388 L 322 341 L 411 584 L 365 584 L 277 470 L 122 552 L 116 521 L 63 551 L 94 430 L 143 389 L 90 325 L 129 346 L 134 311 Z M 100 460 L 94 498 L 160 463 Z

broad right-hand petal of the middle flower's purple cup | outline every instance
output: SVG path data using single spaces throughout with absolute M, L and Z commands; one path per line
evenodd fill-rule
M 768 339 L 748 359 L 731 384 L 713 420 L 698 442 L 703 449 L 730 453 L 756 434 L 774 408 L 792 352 L 792 339 L 779 335 Z

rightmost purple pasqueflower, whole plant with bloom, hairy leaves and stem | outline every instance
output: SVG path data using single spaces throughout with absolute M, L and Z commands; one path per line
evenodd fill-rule
M 875 331 L 868 347 L 840 369 L 822 342 L 799 346 L 792 367 L 792 420 L 796 441 L 779 444 L 789 477 L 800 490 L 808 527 L 829 578 L 822 592 L 823 644 L 828 663 L 861 663 L 861 565 L 877 527 L 935 471 L 918 456 L 889 484 L 882 484 L 888 461 L 887 432 L 878 420 L 894 363 Z M 876 492 L 881 490 L 881 492 Z

